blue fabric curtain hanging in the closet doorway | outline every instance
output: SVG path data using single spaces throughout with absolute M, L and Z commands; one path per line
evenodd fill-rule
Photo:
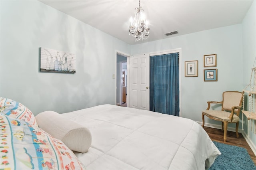
M 150 111 L 179 116 L 178 53 L 150 57 Z

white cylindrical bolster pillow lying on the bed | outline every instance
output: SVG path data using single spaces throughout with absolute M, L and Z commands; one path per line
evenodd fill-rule
M 70 150 L 85 153 L 92 144 L 92 135 L 88 128 L 66 119 L 54 111 L 45 111 L 36 115 L 40 128 L 62 140 Z

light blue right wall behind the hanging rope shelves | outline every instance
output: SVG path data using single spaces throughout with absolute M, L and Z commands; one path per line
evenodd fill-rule
M 242 34 L 243 34 L 243 82 L 244 87 L 248 85 L 250 82 L 250 75 L 251 75 L 251 68 L 256 67 L 254 65 L 254 60 L 256 58 L 256 1 L 253 2 L 252 6 L 248 10 L 244 20 L 242 22 Z M 252 77 L 253 83 L 253 77 Z M 254 106 L 256 107 L 256 106 Z M 246 109 L 248 110 L 248 103 Z M 254 144 L 256 144 L 256 135 L 254 134 L 254 122 L 249 121 L 252 123 L 253 130 L 249 126 L 249 136 L 250 140 Z M 244 132 L 247 134 L 248 129 L 248 121 L 244 116 L 244 123 L 246 126 L 244 127 Z

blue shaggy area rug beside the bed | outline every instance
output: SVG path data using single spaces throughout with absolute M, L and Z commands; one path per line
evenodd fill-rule
M 221 155 L 216 158 L 209 170 L 256 170 L 256 166 L 245 148 L 213 142 L 220 150 Z

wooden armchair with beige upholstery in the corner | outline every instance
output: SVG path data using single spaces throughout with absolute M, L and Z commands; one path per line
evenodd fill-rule
M 239 114 L 242 107 L 243 93 L 239 91 L 225 91 L 222 94 L 222 101 L 208 101 L 208 107 L 206 111 L 202 111 L 202 119 L 204 127 L 204 115 L 210 119 L 222 122 L 222 130 L 224 130 L 224 142 L 227 140 L 227 128 L 228 123 L 236 123 L 236 137 L 238 134 L 238 123 Z M 211 104 L 221 104 L 222 109 L 219 110 L 209 110 Z M 235 113 L 235 114 L 234 114 Z

